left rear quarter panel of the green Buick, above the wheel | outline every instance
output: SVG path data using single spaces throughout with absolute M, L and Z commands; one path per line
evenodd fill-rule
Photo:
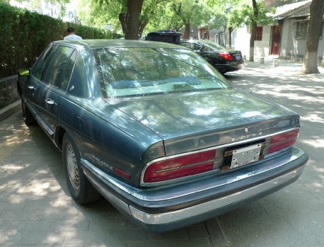
M 115 167 L 131 174 L 130 180 L 119 176 L 127 183 L 139 185 L 144 164 L 164 155 L 160 137 L 100 98 L 63 98 L 58 117 L 81 157 L 113 176 L 119 176 Z

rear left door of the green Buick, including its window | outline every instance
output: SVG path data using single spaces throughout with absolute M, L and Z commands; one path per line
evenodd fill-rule
M 39 122 L 50 137 L 54 134 L 57 109 L 62 96 L 66 93 L 76 57 L 77 51 L 74 47 L 60 45 L 48 62 L 35 92 L 35 106 L 37 115 L 40 117 Z

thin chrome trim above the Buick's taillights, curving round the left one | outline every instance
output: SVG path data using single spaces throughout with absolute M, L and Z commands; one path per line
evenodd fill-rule
M 187 176 L 187 177 L 184 177 L 184 178 L 175 178 L 173 180 L 166 180 L 166 181 L 162 181 L 162 182 L 145 183 L 144 182 L 144 174 L 146 172 L 146 169 L 149 166 L 151 166 L 151 164 L 154 163 L 154 162 L 164 161 L 166 159 L 178 158 L 180 156 L 185 156 L 185 155 L 190 155 L 190 154 L 197 154 L 197 153 L 200 153 L 200 152 L 209 151 L 209 150 L 213 150 L 213 149 L 221 149 L 221 148 L 225 148 L 225 147 L 236 146 L 236 145 L 244 144 L 244 143 L 247 143 L 247 142 L 255 142 L 255 141 L 258 141 L 260 139 L 266 139 L 266 138 L 272 137 L 272 136 L 274 136 L 276 134 L 282 134 L 284 132 L 289 132 L 289 131 L 292 131 L 292 130 L 299 130 L 299 127 L 294 127 L 294 128 L 289 129 L 289 130 L 283 130 L 283 131 L 280 131 L 280 132 L 274 132 L 272 134 L 267 134 L 267 135 L 262 136 L 262 137 L 255 137 L 255 138 L 251 138 L 251 139 L 245 139 L 245 140 L 240 141 L 240 142 L 231 142 L 229 144 L 223 144 L 223 145 L 216 146 L 216 147 L 209 147 L 208 149 L 200 149 L 200 150 L 197 150 L 197 151 L 190 151 L 190 152 L 183 153 L 183 154 L 175 154 L 175 155 L 172 155 L 172 156 L 164 156 L 164 157 L 161 157 L 161 158 L 158 158 L 158 159 L 154 159 L 153 161 L 150 161 L 149 163 L 146 163 L 143 170 L 141 171 L 140 185 L 144 186 L 144 187 L 151 187 L 151 186 L 156 186 L 156 185 L 166 185 L 166 184 L 175 183 L 175 182 L 179 182 L 179 181 L 183 181 L 183 180 L 187 180 L 189 178 L 192 178 L 192 176 Z M 207 172 L 207 173 L 210 173 L 210 172 Z M 199 177 L 199 175 L 200 176 L 201 176 L 201 174 L 206 175 L 207 173 L 199 173 L 199 174 L 193 175 L 193 176 Z

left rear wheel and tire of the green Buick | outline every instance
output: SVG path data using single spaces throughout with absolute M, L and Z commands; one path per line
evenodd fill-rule
M 64 134 L 63 137 L 62 158 L 71 197 L 79 204 L 98 200 L 100 194 L 83 173 L 79 150 L 69 134 Z

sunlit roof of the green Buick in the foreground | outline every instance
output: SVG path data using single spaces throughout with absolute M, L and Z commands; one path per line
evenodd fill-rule
M 106 47 L 118 48 L 173 48 L 183 49 L 183 46 L 173 45 L 165 42 L 155 42 L 146 40 L 59 40 L 56 44 L 76 45 L 85 49 L 98 49 Z

